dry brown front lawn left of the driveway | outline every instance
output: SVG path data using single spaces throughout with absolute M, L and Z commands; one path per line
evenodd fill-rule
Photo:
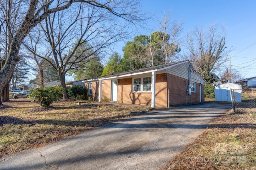
M 0 109 L 0 157 L 44 146 L 82 131 L 146 111 L 149 107 L 60 101 L 50 109 L 11 99 Z

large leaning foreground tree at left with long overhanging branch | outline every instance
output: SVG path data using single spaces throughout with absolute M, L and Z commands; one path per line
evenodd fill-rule
M 107 14 L 112 14 L 113 16 L 117 16 L 118 18 L 122 18 L 133 24 L 140 24 L 145 19 L 145 15 L 143 17 L 143 14 L 140 12 L 140 2 L 138 0 L 127 0 L 125 2 L 119 0 L 109 0 L 104 2 L 104 4 L 88 0 L 30 0 L 29 3 L 28 1 L 16 0 L 15 2 L 20 4 L 22 8 L 12 7 L 12 15 L 20 18 L 20 23 L 18 24 L 17 29 L 14 29 L 13 31 L 14 33 L 10 39 L 6 61 L 0 70 L 0 94 L 2 94 L 4 87 L 10 81 L 15 65 L 20 60 L 18 53 L 20 51 L 22 41 L 30 33 L 31 29 L 33 29 L 41 21 L 45 20 L 50 14 L 61 10 L 66 10 L 72 6 L 72 4 L 82 2 L 84 4 L 94 6 L 96 9 L 102 9 L 107 12 Z M 1 0 L 1 7 L 5 3 L 5 0 Z M 59 5 L 56 7 L 56 4 Z M 4 18 L 5 14 L 6 12 L 1 13 L 0 18 Z M 8 20 L 3 21 L 6 23 Z M 10 27 L 10 29 L 12 28 L 13 27 Z M 2 105 L 2 101 L 0 101 L 0 105 Z

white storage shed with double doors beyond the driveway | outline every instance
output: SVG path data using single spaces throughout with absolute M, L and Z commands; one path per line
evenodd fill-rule
M 240 84 L 234 84 L 234 83 L 224 83 L 224 84 L 215 86 L 215 89 L 214 89 L 215 101 L 231 102 L 230 89 L 232 89 L 232 95 L 233 95 L 233 90 L 235 90 L 235 102 L 241 102 L 242 86 Z

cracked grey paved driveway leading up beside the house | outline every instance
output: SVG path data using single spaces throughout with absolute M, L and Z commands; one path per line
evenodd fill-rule
M 154 109 L 0 160 L 0 170 L 155 170 L 192 143 L 230 105 Z

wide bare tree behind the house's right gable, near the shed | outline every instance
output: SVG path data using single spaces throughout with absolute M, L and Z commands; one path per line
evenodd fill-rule
M 209 26 L 208 31 L 197 26 L 188 34 L 190 62 L 206 82 L 214 82 L 216 73 L 226 70 L 222 66 L 227 61 L 230 50 L 226 47 L 225 35 L 225 30 L 220 30 L 214 24 Z

